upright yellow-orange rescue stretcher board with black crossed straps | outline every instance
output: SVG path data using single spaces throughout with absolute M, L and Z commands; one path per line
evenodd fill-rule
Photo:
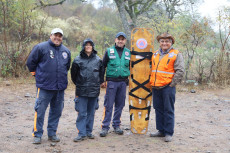
M 129 112 L 131 131 L 146 134 L 152 103 L 151 57 L 154 44 L 152 29 L 134 28 L 131 33 Z

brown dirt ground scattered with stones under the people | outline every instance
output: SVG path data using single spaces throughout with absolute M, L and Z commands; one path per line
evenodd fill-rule
M 190 89 L 189 89 L 190 90 Z M 124 135 L 110 130 L 105 138 L 99 137 L 101 130 L 103 100 L 96 111 L 94 140 L 73 142 L 77 136 L 75 126 L 77 113 L 74 110 L 74 86 L 65 93 L 65 108 L 60 119 L 59 143 L 47 141 L 47 112 L 41 145 L 32 144 L 34 102 L 36 87 L 33 81 L 0 80 L 0 152 L 3 153 L 70 153 L 70 152 L 156 152 L 156 153 L 230 153 L 230 89 L 205 89 L 190 93 L 186 87 L 177 90 L 175 103 L 175 134 L 173 141 L 150 138 L 155 131 L 155 115 L 151 110 L 149 131 L 146 135 L 132 134 L 129 122 L 128 98 L 122 114 Z

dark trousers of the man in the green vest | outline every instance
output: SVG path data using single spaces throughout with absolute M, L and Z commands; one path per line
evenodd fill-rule
M 126 98 L 126 83 L 125 81 L 122 82 L 107 82 L 106 94 L 105 94 L 105 101 L 104 101 L 104 114 L 103 114 L 103 121 L 102 121 L 102 129 L 109 130 L 112 112 L 113 112 L 113 105 L 114 108 L 114 115 L 113 115 L 113 128 L 119 127 L 121 124 L 121 113 L 123 107 L 125 106 L 125 98 Z

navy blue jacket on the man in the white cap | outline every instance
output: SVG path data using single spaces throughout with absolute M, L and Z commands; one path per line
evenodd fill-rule
M 35 72 L 37 88 L 45 90 L 64 90 L 68 85 L 68 70 L 71 53 L 64 45 L 55 46 L 51 40 L 34 46 L 27 67 Z

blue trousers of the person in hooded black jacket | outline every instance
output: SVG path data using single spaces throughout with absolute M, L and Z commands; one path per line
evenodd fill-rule
M 78 112 L 76 126 L 79 136 L 87 136 L 93 131 L 94 114 L 97 104 L 97 97 L 77 97 L 75 110 Z

